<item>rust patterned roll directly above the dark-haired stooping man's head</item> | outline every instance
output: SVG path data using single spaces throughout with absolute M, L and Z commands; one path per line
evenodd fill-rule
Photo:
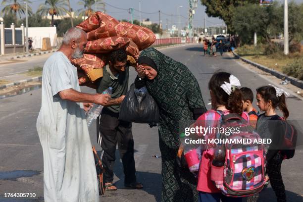
M 129 45 L 130 40 L 125 37 L 108 37 L 89 41 L 86 45 L 86 53 L 109 53 Z

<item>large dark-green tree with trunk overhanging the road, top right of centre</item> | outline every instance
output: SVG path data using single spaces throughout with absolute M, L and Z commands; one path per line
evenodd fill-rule
M 209 17 L 219 17 L 224 20 L 228 32 L 233 34 L 235 30 L 232 18 L 235 14 L 235 8 L 246 3 L 257 4 L 259 0 L 201 0 L 201 3 L 206 6 L 205 12 Z

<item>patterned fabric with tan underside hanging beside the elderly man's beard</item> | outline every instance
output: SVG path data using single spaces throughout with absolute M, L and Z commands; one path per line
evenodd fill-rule
M 107 58 L 106 55 L 84 53 L 83 57 L 72 59 L 71 63 L 83 70 L 90 81 L 96 81 L 103 76 Z

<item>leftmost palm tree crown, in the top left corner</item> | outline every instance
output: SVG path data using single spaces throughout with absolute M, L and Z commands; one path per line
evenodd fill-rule
M 1 10 L 1 14 L 5 15 L 8 13 L 13 13 L 15 20 L 17 20 L 17 14 L 19 15 L 21 19 L 21 15 L 25 14 L 26 12 L 26 6 L 24 1 L 27 1 L 27 3 L 31 3 L 29 0 L 2 0 L 1 5 L 4 6 L 4 8 Z M 28 14 L 32 14 L 32 8 L 30 6 L 27 7 Z

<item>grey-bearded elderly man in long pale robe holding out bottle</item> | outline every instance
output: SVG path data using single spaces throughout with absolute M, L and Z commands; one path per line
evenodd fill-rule
M 37 130 L 44 158 L 45 202 L 99 202 L 92 143 L 82 102 L 104 105 L 105 94 L 80 92 L 72 58 L 82 57 L 86 33 L 69 29 L 46 61 Z

